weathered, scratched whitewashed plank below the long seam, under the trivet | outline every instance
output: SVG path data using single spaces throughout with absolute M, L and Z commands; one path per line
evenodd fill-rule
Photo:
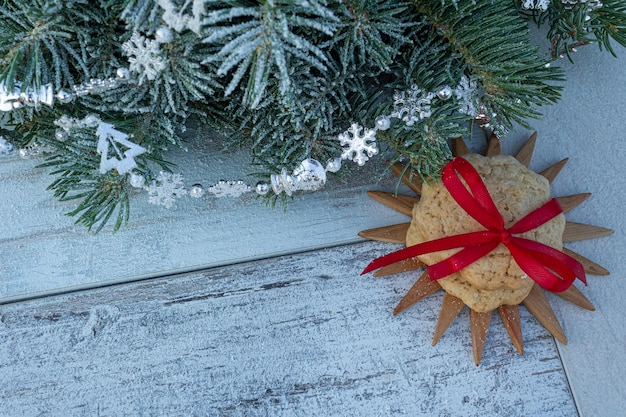
M 557 352 L 523 312 L 482 363 L 441 297 L 392 316 L 414 278 L 360 277 L 364 243 L 6 305 L 0 415 L 576 415 Z

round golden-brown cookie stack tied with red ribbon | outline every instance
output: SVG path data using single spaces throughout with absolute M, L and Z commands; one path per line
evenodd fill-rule
M 478 171 L 509 228 L 519 219 L 550 200 L 548 180 L 519 163 L 512 156 L 464 155 Z M 519 236 L 562 249 L 565 216 Z M 424 184 L 420 202 L 413 208 L 413 221 L 406 244 L 412 246 L 429 240 L 484 230 L 454 201 L 441 182 Z M 460 249 L 420 255 L 432 265 Z M 503 304 L 519 304 L 530 292 L 534 281 L 519 268 L 508 249 L 500 244 L 485 257 L 457 273 L 437 281 L 450 295 L 476 312 L 487 312 Z

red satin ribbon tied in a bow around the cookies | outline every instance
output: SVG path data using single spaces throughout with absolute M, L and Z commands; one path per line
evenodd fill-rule
M 548 201 L 507 229 L 480 175 L 465 159 L 455 158 L 446 165 L 442 181 L 459 206 L 487 230 L 409 246 L 374 259 L 361 275 L 418 255 L 463 248 L 449 258 L 427 267 L 430 279 L 435 281 L 460 271 L 502 243 L 522 271 L 548 291 L 565 291 L 576 278 L 587 284 L 584 268 L 576 259 L 543 243 L 514 236 L 535 229 L 562 213 L 563 209 L 556 199 Z

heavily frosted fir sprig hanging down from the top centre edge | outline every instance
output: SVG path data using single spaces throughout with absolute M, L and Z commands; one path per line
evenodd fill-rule
M 232 3 L 242 5 L 208 2 L 203 21 L 207 33 L 203 42 L 218 48 L 204 62 L 216 64 L 217 75 L 230 74 L 225 96 L 243 84 L 243 104 L 255 108 L 264 97 L 270 75 L 278 77 L 280 95 L 290 96 L 291 62 L 304 62 L 321 72 L 326 69 L 327 57 L 315 39 L 331 36 L 338 19 L 323 2 Z

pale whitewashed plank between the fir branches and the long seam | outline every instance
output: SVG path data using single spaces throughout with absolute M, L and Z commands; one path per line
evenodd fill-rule
M 170 155 L 187 187 L 246 179 L 254 170 L 242 168 L 249 165 L 245 153 L 225 153 L 217 138 L 202 136 L 189 146 L 189 152 Z M 74 202 L 59 203 L 46 191 L 53 177 L 36 169 L 39 163 L 41 159 L 17 156 L 0 160 L 0 304 L 67 287 L 88 288 L 358 242 L 361 230 L 406 221 L 367 196 L 370 189 L 393 190 L 397 181 L 389 175 L 380 184 L 367 185 L 363 178 L 376 178 L 371 164 L 360 177 L 329 179 L 324 191 L 294 195 L 284 210 L 280 203 L 275 209 L 267 207 L 254 194 L 238 199 L 185 197 L 166 209 L 148 204 L 148 196 L 137 193 L 128 226 L 115 234 L 105 229 L 92 236 L 64 215 Z M 404 186 L 401 192 L 411 193 Z

